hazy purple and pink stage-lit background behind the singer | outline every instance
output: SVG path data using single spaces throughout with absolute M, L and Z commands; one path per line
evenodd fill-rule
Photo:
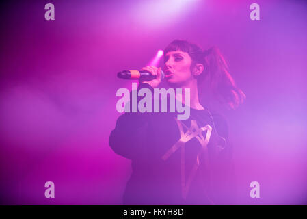
M 108 142 L 116 90 L 131 81 L 116 73 L 176 38 L 219 47 L 247 96 L 225 113 L 239 204 L 307 203 L 305 1 L 11 1 L 0 16 L 2 204 L 122 204 L 130 161 Z

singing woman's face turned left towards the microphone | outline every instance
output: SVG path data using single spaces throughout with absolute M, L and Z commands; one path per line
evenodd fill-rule
M 165 80 L 170 86 L 181 87 L 187 84 L 193 75 L 191 73 L 192 60 L 188 53 L 183 51 L 170 51 L 164 55 Z

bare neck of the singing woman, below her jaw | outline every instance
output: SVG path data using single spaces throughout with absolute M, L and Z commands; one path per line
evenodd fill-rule
M 198 86 L 196 79 L 193 79 L 189 81 L 189 83 L 186 83 L 183 86 L 180 86 L 179 88 L 183 89 L 183 93 L 181 96 L 182 103 L 185 103 L 185 88 L 189 88 L 190 90 L 190 107 L 194 108 L 196 110 L 204 110 L 204 107 L 200 104 L 200 101 L 198 99 Z M 178 95 L 178 94 L 177 94 Z M 178 98 L 178 97 L 176 97 Z

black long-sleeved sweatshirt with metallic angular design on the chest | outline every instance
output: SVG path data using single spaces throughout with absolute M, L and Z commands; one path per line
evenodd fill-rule
M 153 89 L 146 83 L 138 89 L 141 88 Z M 224 118 L 207 109 L 190 108 L 187 120 L 177 120 L 177 114 L 126 112 L 118 118 L 109 145 L 118 155 L 131 159 L 133 168 L 124 205 L 224 204 L 232 195 L 231 151 Z M 190 134 L 200 131 L 198 128 L 211 127 L 211 135 L 209 129 L 203 128 L 198 137 L 178 142 L 192 123 L 196 128 Z M 204 145 L 206 137 L 209 143 Z M 174 145 L 178 148 L 170 152 Z

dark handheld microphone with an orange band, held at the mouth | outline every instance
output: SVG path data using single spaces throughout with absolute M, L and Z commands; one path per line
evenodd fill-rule
M 163 81 L 164 76 L 163 70 L 161 70 L 161 81 Z M 156 78 L 156 75 L 152 75 L 147 70 L 123 70 L 117 74 L 117 77 L 122 79 L 142 79 L 143 81 L 151 81 Z

